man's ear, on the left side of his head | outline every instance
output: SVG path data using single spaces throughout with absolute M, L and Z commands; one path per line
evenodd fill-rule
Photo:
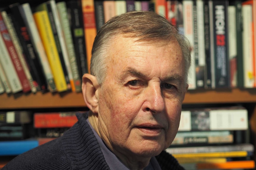
M 93 112 L 98 113 L 99 83 L 95 76 L 84 74 L 82 78 L 83 99 L 86 106 Z

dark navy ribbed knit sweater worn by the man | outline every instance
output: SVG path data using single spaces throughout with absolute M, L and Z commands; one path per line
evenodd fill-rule
M 15 157 L 1 170 L 108 170 L 99 143 L 86 122 L 88 115 L 76 116 L 78 122 L 63 136 Z M 165 151 L 156 158 L 162 170 L 183 170 Z

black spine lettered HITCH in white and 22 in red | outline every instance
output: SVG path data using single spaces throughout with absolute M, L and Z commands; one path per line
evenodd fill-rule
M 216 88 L 229 88 L 228 1 L 213 1 L 214 70 Z

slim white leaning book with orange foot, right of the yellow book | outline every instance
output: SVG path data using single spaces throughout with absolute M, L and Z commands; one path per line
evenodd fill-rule
M 66 69 L 67 69 L 69 82 L 74 87 L 74 79 L 73 79 L 73 75 L 72 75 L 72 71 L 71 71 L 71 66 L 69 63 L 69 56 L 68 56 L 67 48 L 65 45 L 64 35 L 62 32 L 62 28 L 61 28 L 61 22 L 60 22 L 60 17 L 58 14 L 56 2 L 55 2 L 55 0 L 50 0 L 49 2 L 50 2 L 50 6 L 51 6 L 51 9 L 53 12 L 53 18 L 55 21 L 56 30 L 57 30 L 57 34 L 58 34 L 58 38 L 59 38 L 59 42 L 60 42 L 60 47 L 61 47 L 61 51 L 62 51 L 64 63 L 65 63 L 64 67 L 66 67 Z

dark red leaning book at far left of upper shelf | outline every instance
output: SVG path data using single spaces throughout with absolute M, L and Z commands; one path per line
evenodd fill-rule
M 4 43 L 7 47 L 7 50 L 10 54 L 10 57 L 11 57 L 11 60 L 12 60 L 12 63 L 15 67 L 15 70 L 18 74 L 18 77 L 19 77 L 19 80 L 20 80 L 20 83 L 22 85 L 22 88 L 23 88 L 23 92 L 29 92 L 31 90 L 30 88 L 30 85 L 29 85 L 29 80 L 27 79 L 26 75 L 25 75 L 25 72 L 23 70 L 23 67 L 20 63 L 20 59 L 18 58 L 18 54 L 14 48 L 14 45 L 12 43 L 12 40 L 10 38 L 10 35 L 9 35 L 9 32 L 6 28 L 6 25 L 4 23 L 4 20 L 2 18 L 2 15 L 0 13 L 0 33 L 2 34 L 3 36 L 3 39 L 4 39 Z

